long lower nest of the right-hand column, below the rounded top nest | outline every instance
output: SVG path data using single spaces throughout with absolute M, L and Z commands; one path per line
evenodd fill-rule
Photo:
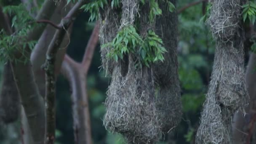
M 232 116 L 248 103 L 245 86 L 243 38 L 234 43 L 218 43 L 204 104 L 197 144 L 229 144 Z

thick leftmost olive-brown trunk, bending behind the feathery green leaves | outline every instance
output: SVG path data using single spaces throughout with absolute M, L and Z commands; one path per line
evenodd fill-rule
M 43 7 L 37 14 L 36 19 L 49 19 L 56 8 L 53 0 L 45 0 Z M 35 26 L 30 32 L 27 33 L 26 40 L 38 40 L 42 35 L 46 24 Z M 18 48 L 17 48 L 18 49 Z M 26 45 L 27 51 L 25 57 L 29 57 L 31 50 Z M 21 101 L 27 115 L 29 127 L 32 133 L 34 144 L 43 144 L 45 137 L 45 112 L 43 98 L 40 96 L 37 84 L 35 82 L 34 73 L 32 71 L 31 62 L 28 61 L 24 64 L 24 57 L 21 51 L 14 53 L 16 59 L 21 61 L 12 61 L 13 76 L 16 81 L 18 91 L 21 96 Z

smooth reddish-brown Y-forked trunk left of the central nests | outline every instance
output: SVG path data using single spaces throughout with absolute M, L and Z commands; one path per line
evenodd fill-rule
M 75 62 L 66 55 L 61 67 L 62 74 L 69 80 L 72 87 L 73 128 L 76 144 L 92 144 L 86 79 L 98 40 L 99 22 L 97 21 L 86 47 L 83 61 Z

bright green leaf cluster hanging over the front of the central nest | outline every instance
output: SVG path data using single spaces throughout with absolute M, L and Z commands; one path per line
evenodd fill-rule
M 112 48 L 108 56 L 115 59 L 115 61 L 118 61 L 118 58 L 123 59 L 124 54 L 135 54 L 140 67 L 142 67 L 142 64 L 150 67 L 151 63 L 163 61 L 163 53 L 167 52 L 163 47 L 163 41 L 153 30 L 149 30 L 147 37 L 142 39 L 132 25 L 124 27 L 118 32 L 112 42 L 101 46 L 101 48 L 105 47 Z

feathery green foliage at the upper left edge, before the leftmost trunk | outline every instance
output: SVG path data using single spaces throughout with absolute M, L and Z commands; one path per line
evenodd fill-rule
M 19 61 L 19 59 L 14 59 L 13 52 L 18 49 L 23 55 L 26 55 L 26 46 L 32 49 L 36 44 L 36 41 L 27 41 L 26 39 L 27 32 L 35 26 L 35 22 L 28 15 L 23 4 L 5 6 L 3 12 L 12 16 L 11 27 L 15 29 L 15 32 L 13 35 L 7 35 L 3 29 L 0 31 L 0 59 L 2 61 Z M 28 58 L 23 62 L 27 62 L 27 60 Z

